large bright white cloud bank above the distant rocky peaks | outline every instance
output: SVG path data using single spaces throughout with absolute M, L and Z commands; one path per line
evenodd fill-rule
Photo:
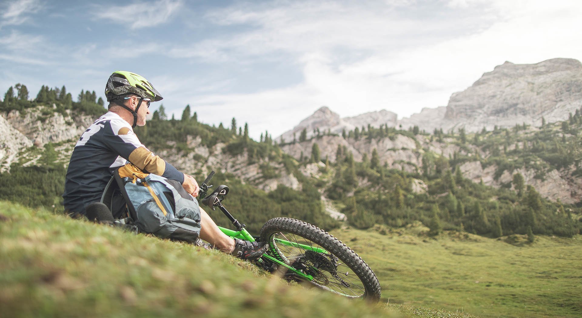
M 425 4 L 414 2 L 400 4 L 409 14 L 378 2 L 276 2 L 208 13 L 215 23 L 240 24 L 246 31 L 174 49 L 173 56 L 216 62 L 285 53 L 293 57 L 289 63 L 301 67 L 304 79 L 276 90 L 183 100 L 216 109 L 208 117 L 212 123 L 228 123 L 235 116 L 251 128 L 278 135 L 322 105 L 342 116 L 378 109 L 409 116 L 424 107 L 446 105 L 450 94 L 505 60 L 582 58 L 582 34 L 576 32 L 582 16 L 579 2 L 445 4 L 449 9 L 441 6 L 421 17 L 414 13 Z

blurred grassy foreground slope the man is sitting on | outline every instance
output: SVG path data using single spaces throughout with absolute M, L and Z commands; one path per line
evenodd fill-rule
M 286 284 L 217 251 L 8 202 L 0 211 L 5 317 L 472 317 L 372 306 Z

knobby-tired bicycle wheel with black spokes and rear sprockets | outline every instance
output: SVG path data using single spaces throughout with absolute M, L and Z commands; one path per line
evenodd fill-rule
M 380 299 L 378 278 L 364 260 L 318 227 L 288 217 L 275 217 L 262 227 L 261 241 L 268 242 L 269 255 L 313 276 L 313 280 L 300 280 L 293 271 L 279 266 L 288 280 L 349 298 L 372 302 Z

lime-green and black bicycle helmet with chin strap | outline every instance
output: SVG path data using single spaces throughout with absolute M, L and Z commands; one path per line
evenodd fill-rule
M 108 102 L 111 102 L 113 99 L 118 98 L 119 95 L 125 94 L 136 94 L 140 97 L 140 101 L 137 102 L 135 110 L 120 104 L 120 106 L 132 113 L 132 128 L 137 126 L 137 110 L 139 110 L 141 102 L 145 98 L 151 99 L 152 102 L 158 102 L 164 99 L 159 95 L 159 92 L 155 90 L 154 85 L 144 77 L 132 72 L 115 71 L 111 76 L 109 76 L 109 80 L 107 80 L 107 84 L 105 85 L 105 98 L 107 98 Z

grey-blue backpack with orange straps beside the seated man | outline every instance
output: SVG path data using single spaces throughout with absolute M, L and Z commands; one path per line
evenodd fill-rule
M 112 191 L 113 180 L 123 196 L 127 216 L 132 217 L 140 232 L 154 234 L 170 240 L 195 243 L 200 234 L 200 208 L 198 201 L 188 194 L 175 180 L 168 180 L 152 173 L 145 173 L 128 163 L 113 173 L 113 178 L 104 192 L 106 205 L 116 209 Z M 106 195 L 107 194 L 107 195 Z M 119 213 L 116 218 L 120 218 Z M 116 215 L 113 212 L 113 215 Z

